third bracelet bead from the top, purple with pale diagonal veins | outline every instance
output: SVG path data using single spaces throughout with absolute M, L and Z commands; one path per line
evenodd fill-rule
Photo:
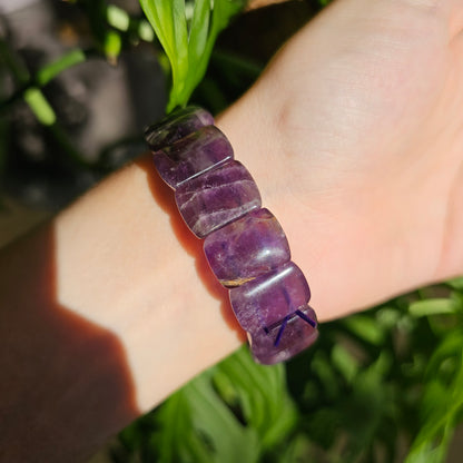
M 175 199 L 198 238 L 260 207 L 253 177 L 235 160 L 185 181 L 176 189 Z

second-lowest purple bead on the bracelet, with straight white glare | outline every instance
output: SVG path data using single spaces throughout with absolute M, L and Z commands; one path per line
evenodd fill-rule
M 244 329 L 257 333 L 279 323 L 311 299 L 304 274 L 288 262 L 275 270 L 229 290 L 232 307 Z

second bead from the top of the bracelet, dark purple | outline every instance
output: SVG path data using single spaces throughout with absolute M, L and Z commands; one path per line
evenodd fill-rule
M 174 189 L 232 159 L 232 145 L 215 126 L 201 127 L 154 154 L 159 175 Z

